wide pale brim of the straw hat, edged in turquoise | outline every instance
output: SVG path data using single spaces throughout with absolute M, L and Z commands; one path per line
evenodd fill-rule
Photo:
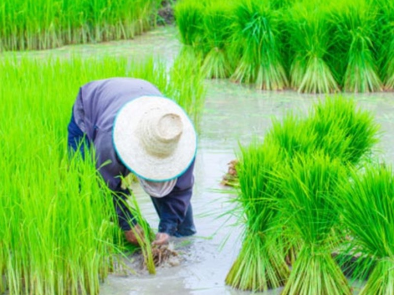
M 153 111 L 176 114 L 182 120 L 183 131 L 178 144 L 165 157 L 148 153 L 141 143 L 139 124 Z M 141 96 L 118 112 L 113 127 L 113 144 L 123 164 L 138 177 L 166 181 L 179 177 L 190 166 L 196 155 L 197 135 L 190 118 L 174 101 L 159 96 Z

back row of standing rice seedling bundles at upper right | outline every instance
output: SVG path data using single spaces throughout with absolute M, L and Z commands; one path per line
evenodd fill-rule
M 209 78 L 308 93 L 394 88 L 393 1 L 182 0 L 177 6 L 182 43 L 206 57 Z

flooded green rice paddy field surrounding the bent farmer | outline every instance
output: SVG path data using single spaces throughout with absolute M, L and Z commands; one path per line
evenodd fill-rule
M 0 294 L 394 294 L 392 1 L 178 0 L 142 35 L 158 3 L 94 3 L 0 4 Z M 197 235 L 156 268 L 66 150 L 79 87 L 113 76 L 155 84 L 199 134 Z

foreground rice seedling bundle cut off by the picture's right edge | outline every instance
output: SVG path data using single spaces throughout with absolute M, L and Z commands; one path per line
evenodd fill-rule
M 373 263 L 356 268 L 364 280 L 360 295 L 394 294 L 394 176 L 391 167 L 368 166 L 352 171 L 335 202 L 342 208 L 343 223 L 350 231 L 348 253 Z M 361 264 L 362 265 L 362 264 Z M 372 266 L 372 271 L 369 269 Z

